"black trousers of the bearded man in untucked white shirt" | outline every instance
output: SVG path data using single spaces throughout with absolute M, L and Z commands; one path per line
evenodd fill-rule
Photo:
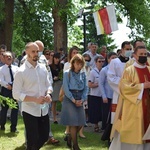
M 27 149 L 39 150 L 48 140 L 49 136 L 49 116 L 35 117 L 23 112 L 25 124 Z

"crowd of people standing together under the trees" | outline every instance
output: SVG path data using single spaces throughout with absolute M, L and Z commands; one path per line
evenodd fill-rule
M 88 43 L 87 51 L 79 54 L 73 46 L 68 56 L 44 50 L 37 40 L 25 46 L 19 59 L 0 46 L 1 95 L 17 102 L 11 110 L 10 132 L 18 133 L 18 110 L 25 125 L 27 150 L 39 150 L 44 143 L 56 144 L 50 124 L 66 126 L 69 148 L 80 150 L 78 134 L 86 138 L 84 126 L 93 124 L 93 132 L 102 133 L 109 150 L 149 150 L 150 137 L 150 59 L 142 40 L 124 41 L 121 49 L 100 53 L 96 43 Z M 57 102 L 61 87 L 64 91 L 60 121 Z M 5 131 L 9 106 L 1 105 L 0 130 Z M 108 130 L 109 127 L 109 130 Z M 105 136 L 104 138 L 104 135 Z

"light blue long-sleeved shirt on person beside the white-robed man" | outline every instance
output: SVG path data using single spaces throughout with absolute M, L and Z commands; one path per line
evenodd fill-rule
M 102 93 L 102 98 L 110 98 L 112 99 L 113 97 L 113 90 L 108 84 L 107 80 L 107 72 L 108 72 L 109 65 L 106 67 L 102 68 L 100 72 L 100 90 Z

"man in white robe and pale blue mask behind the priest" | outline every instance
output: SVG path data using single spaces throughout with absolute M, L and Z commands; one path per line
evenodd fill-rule
M 118 58 L 113 59 L 110 62 L 110 66 L 107 73 L 107 79 L 110 87 L 113 89 L 113 99 L 111 105 L 111 123 L 113 124 L 114 115 L 119 97 L 118 84 L 123 74 L 125 64 L 129 60 L 129 56 L 132 54 L 132 46 L 128 41 L 124 41 L 121 44 L 121 55 Z

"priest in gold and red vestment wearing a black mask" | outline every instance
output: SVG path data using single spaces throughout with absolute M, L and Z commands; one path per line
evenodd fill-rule
M 144 46 L 137 47 L 134 54 L 135 63 L 125 69 L 120 80 L 123 106 L 116 125 L 119 140 L 112 142 L 110 150 L 150 150 L 150 139 L 143 140 L 150 124 L 150 67 Z

